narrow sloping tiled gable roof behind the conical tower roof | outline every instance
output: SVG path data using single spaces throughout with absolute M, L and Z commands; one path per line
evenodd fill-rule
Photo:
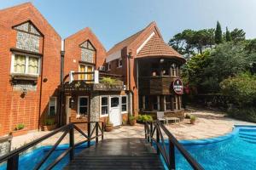
M 125 48 L 125 47 L 129 47 L 130 45 L 132 45 L 133 42 L 136 42 L 138 39 L 140 39 L 140 37 L 143 36 L 143 34 L 146 33 L 146 31 L 149 31 L 150 29 L 152 29 L 153 27 L 155 27 L 157 33 L 159 34 L 159 36 L 161 37 L 160 35 L 160 31 L 158 31 L 158 28 L 155 24 L 155 22 L 151 22 L 147 27 L 145 27 L 143 30 L 141 31 L 138 31 L 137 33 L 131 35 L 131 37 L 127 37 L 125 38 L 125 40 L 121 41 L 121 42 L 118 42 L 116 43 L 113 48 L 110 48 L 108 50 L 108 54 L 113 54 L 119 50 L 121 50 L 122 48 Z

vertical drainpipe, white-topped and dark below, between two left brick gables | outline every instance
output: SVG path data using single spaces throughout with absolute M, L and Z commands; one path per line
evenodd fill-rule
M 62 125 L 62 102 L 63 102 L 63 78 L 64 78 L 64 55 L 65 55 L 65 40 L 61 41 L 61 91 L 59 92 L 59 126 Z

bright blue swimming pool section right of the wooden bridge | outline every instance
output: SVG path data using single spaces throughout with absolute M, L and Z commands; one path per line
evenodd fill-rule
M 232 133 L 218 138 L 180 142 L 205 169 L 256 169 L 255 126 L 236 126 Z M 192 169 L 179 153 L 176 162 L 177 169 Z

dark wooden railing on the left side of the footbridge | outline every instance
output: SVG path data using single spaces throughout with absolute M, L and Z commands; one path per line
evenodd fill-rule
M 62 132 L 61 137 L 55 142 L 55 144 L 52 146 L 52 148 L 43 157 L 43 159 L 34 167 L 34 169 L 39 169 L 40 167 L 42 167 L 44 162 L 47 161 L 49 156 L 51 156 L 51 154 L 54 152 L 54 150 L 57 148 L 57 146 L 66 137 L 67 133 L 69 133 L 69 147 L 65 151 L 63 151 L 63 153 L 61 153 L 60 156 L 55 158 L 55 160 L 53 162 L 51 162 L 48 165 L 48 167 L 46 167 L 45 169 L 51 169 L 51 168 L 55 167 L 55 165 L 59 161 L 61 161 L 62 158 L 67 156 L 68 153 L 69 153 L 69 160 L 72 161 L 73 158 L 74 158 L 74 149 L 75 149 L 76 146 L 79 146 L 80 144 L 84 144 L 85 142 L 87 142 L 87 146 L 90 147 L 90 141 L 91 140 L 96 139 L 96 143 L 98 143 L 98 141 L 99 141 L 98 138 L 99 137 L 102 137 L 102 140 L 103 140 L 103 136 L 104 136 L 103 122 L 83 122 L 83 123 L 87 123 L 87 129 L 88 129 L 87 134 L 85 134 L 74 123 L 70 123 L 70 124 L 65 125 L 63 127 L 57 128 L 55 131 L 53 131 L 51 133 L 48 133 L 48 134 L 44 135 L 43 137 L 32 141 L 29 144 L 25 144 L 24 146 L 20 147 L 17 150 L 11 151 L 9 154 L 7 154 L 5 156 L 0 157 L 0 163 L 2 163 L 3 161 L 7 161 L 7 169 L 8 170 L 19 169 L 19 156 L 20 156 L 21 152 L 24 152 L 24 151 L 28 150 L 29 148 L 31 148 L 32 146 L 34 146 L 36 144 L 39 144 L 40 142 L 44 141 L 45 139 L 49 139 L 50 137 L 54 136 L 56 133 L 61 133 L 61 132 Z M 102 125 L 102 127 L 100 126 L 100 124 Z M 92 127 L 92 126 L 93 126 L 93 130 L 90 130 L 90 127 Z M 74 130 L 77 130 L 85 138 L 83 141 L 81 141 L 77 144 L 74 144 Z M 99 133 L 99 131 L 101 133 Z M 93 136 L 94 133 L 96 133 L 95 136 Z

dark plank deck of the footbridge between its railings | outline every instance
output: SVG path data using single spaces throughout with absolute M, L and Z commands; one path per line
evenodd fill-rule
M 81 151 L 64 169 L 165 169 L 145 139 L 104 139 Z

